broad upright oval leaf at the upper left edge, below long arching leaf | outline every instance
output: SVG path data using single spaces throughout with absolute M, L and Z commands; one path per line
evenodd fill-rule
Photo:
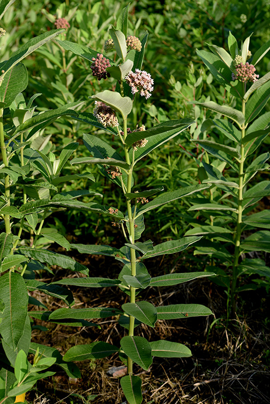
M 5 108 L 9 107 L 16 95 L 22 92 L 28 84 L 28 73 L 22 63 L 13 66 L 5 75 L 0 86 L 0 100 L 6 103 Z

